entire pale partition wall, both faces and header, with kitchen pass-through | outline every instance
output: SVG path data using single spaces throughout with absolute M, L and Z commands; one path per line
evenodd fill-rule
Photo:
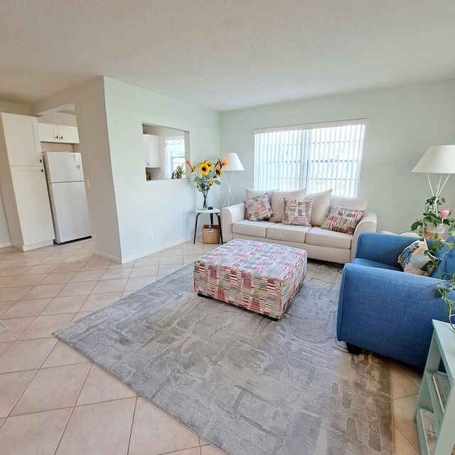
M 189 131 L 191 156 L 198 160 L 219 154 L 219 114 L 107 77 L 42 100 L 33 105 L 33 113 L 70 102 L 90 180 L 87 202 L 95 252 L 128 262 L 191 238 L 194 209 L 202 197 L 189 179 L 145 180 L 142 124 Z M 212 191 L 210 203 L 215 205 L 219 191 Z

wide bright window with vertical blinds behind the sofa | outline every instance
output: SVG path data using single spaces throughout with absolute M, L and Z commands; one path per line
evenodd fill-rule
M 255 188 L 358 196 L 366 120 L 255 129 Z

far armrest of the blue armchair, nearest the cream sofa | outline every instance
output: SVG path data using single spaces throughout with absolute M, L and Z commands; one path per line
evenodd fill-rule
M 403 235 L 362 232 L 358 237 L 355 257 L 397 267 L 400 253 L 415 240 Z

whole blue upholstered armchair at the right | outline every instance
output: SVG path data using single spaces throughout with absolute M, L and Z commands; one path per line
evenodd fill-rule
M 405 273 L 397 263 L 414 240 L 360 233 L 355 259 L 343 269 L 338 299 L 337 338 L 351 353 L 363 348 L 424 368 L 432 319 L 447 321 L 448 311 L 437 291 L 440 279 Z M 446 272 L 453 273 L 455 249 L 444 258 Z M 449 296 L 455 300 L 455 291 Z

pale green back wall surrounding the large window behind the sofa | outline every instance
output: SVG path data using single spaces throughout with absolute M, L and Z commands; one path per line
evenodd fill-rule
M 378 230 L 410 230 L 431 196 L 427 177 L 412 168 L 429 146 L 455 144 L 455 80 L 223 112 L 221 153 L 237 152 L 245 167 L 234 174 L 236 202 L 253 186 L 253 129 L 359 118 L 368 122 L 359 196 L 371 198 Z M 455 176 L 443 196 L 455 213 Z

